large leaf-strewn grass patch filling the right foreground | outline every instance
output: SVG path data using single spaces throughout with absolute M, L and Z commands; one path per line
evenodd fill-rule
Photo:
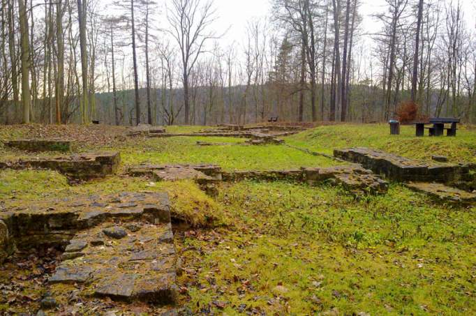
M 475 208 L 399 185 L 357 202 L 338 188 L 242 182 L 218 200 L 235 227 L 182 246 L 202 251 L 184 253 L 192 268 L 181 276 L 195 313 L 221 313 L 217 301 L 228 315 L 476 313 Z

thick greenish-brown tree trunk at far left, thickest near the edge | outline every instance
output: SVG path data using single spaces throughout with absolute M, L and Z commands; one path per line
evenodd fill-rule
M 28 15 L 24 0 L 18 0 L 18 11 L 20 16 L 20 45 L 22 48 L 22 107 L 23 119 L 22 123 L 30 123 L 30 53 L 29 53 L 29 29 L 28 29 Z

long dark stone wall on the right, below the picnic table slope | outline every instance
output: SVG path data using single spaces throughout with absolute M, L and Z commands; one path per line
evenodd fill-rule
M 396 181 L 456 183 L 473 181 L 468 165 L 429 165 L 392 153 L 368 148 L 336 149 L 334 156 L 352 163 L 362 164 L 366 169 L 383 174 Z

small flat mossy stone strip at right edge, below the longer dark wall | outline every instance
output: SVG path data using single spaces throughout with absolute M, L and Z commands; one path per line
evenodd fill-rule
M 470 193 L 458 188 L 451 188 L 442 183 L 410 182 L 406 186 L 417 192 L 435 197 L 437 200 L 456 202 L 459 204 L 476 203 L 476 193 Z

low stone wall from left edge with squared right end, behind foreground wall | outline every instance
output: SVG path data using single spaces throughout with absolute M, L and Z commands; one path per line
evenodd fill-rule
M 11 169 L 57 170 L 70 181 L 86 181 L 115 174 L 119 169 L 119 153 L 84 153 L 56 158 L 27 158 L 3 163 L 0 167 Z

